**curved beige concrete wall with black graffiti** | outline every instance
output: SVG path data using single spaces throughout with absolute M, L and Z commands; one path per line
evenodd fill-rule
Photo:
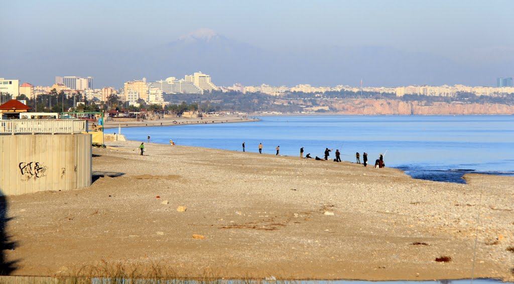
M 0 136 L 0 195 L 91 185 L 91 135 Z

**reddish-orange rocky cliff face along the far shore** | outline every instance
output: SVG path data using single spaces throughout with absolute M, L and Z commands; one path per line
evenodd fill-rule
M 342 115 L 512 115 L 514 105 L 345 99 L 322 101 Z

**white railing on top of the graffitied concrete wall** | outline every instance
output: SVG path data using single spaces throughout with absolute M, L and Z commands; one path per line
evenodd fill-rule
M 86 120 L 0 120 L 0 134 L 47 133 L 47 134 L 79 134 L 87 131 Z

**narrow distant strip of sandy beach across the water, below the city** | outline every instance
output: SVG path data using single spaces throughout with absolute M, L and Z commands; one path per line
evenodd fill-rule
M 246 116 L 218 116 L 205 118 L 163 118 L 158 120 L 141 120 L 141 121 L 113 121 L 107 120 L 104 127 L 107 128 L 124 128 L 124 127 L 146 127 L 146 126 L 174 126 L 183 124 L 210 124 L 210 123 L 234 123 L 234 122 L 250 122 L 259 121 L 252 117 Z

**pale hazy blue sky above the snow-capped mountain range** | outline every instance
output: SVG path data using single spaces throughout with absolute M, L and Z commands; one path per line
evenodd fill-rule
M 462 78 L 467 68 L 491 70 L 487 74 L 491 78 L 477 84 L 493 85 L 495 77 L 514 77 L 514 69 L 505 66 L 492 75 L 494 66 L 514 62 L 513 10 L 510 0 L 3 1 L 0 52 L 8 59 L 0 59 L 0 77 L 48 85 L 56 75 L 87 76 L 80 66 L 66 69 L 74 74 L 48 74 L 43 65 L 58 61 L 51 56 L 59 52 L 137 53 L 207 28 L 271 52 L 373 46 L 429 53 L 462 66 Z M 34 60 L 38 55 L 47 61 L 33 64 L 39 62 Z M 23 71 L 31 65 L 38 72 Z M 101 72 L 95 77 L 98 82 L 119 84 Z M 255 78 L 254 84 L 266 83 L 265 79 Z M 218 80 L 230 82 L 230 78 Z

